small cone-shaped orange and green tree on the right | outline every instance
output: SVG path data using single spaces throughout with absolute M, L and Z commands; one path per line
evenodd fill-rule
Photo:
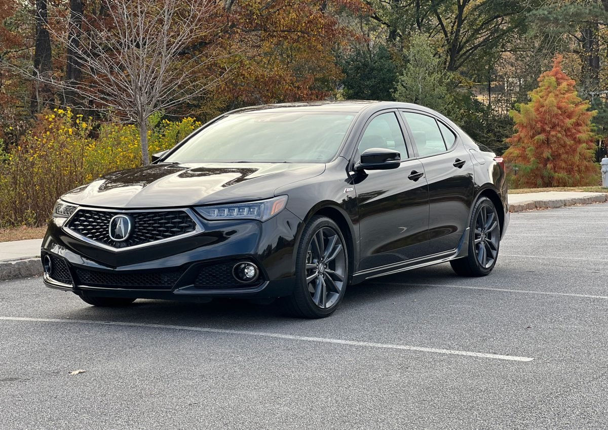
M 531 101 L 511 111 L 516 134 L 503 156 L 512 168 L 517 186 L 592 185 L 598 168 L 593 163 L 593 133 L 589 102 L 582 101 L 575 81 L 561 69 L 562 56 L 553 69 L 538 78 Z

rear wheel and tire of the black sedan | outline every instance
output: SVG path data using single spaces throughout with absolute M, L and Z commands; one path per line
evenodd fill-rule
M 468 256 L 450 261 L 460 276 L 486 276 L 496 265 L 500 248 L 500 222 L 488 197 L 475 202 L 469 222 Z

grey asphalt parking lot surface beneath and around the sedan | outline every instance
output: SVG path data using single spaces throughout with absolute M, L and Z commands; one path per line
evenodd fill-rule
M 0 282 L 0 429 L 606 429 L 607 263 L 608 203 L 512 214 L 487 278 L 378 278 L 315 321 Z

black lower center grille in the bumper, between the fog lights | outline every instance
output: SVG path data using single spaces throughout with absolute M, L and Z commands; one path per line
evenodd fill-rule
M 170 290 L 178 282 L 182 271 L 159 273 L 119 273 L 97 270 L 76 269 L 79 284 L 105 288 L 140 288 Z

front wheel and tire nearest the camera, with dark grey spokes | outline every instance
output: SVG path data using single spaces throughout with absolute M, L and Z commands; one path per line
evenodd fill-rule
M 336 311 L 348 284 L 347 252 L 333 220 L 314 216 L 306 224 L 295 258 L 294 290 L 282 299 L 288 315 L 325 318 Z

